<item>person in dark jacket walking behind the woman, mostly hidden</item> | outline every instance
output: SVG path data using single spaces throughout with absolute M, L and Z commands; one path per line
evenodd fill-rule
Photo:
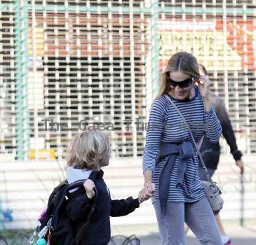
M 201 75 L 208 76 L 206 67 L 203 66 L 202 64 L 199 65 L 199 71 Z M 229 114 L 227 113 L 224 103 L 222 102 L 222 99 L 219 96 L 213 94 L 213 92 L 210 92 L 209 98 L 213 104 L 217 118 L 220 120 L 220 124 L 222 125 L 222 134 L 226 139 L 227 144 L 229 144 L 231 154 L 233 155 L 234 160 L 236 162 L 236 166 L 239 167 L 241 174 L 243 174 L 243 171 L 244 171 L 243 160 L 242 160 L 243 154 L 241 153 L 241 151 L 238 150 L 238 147 L 236 145 L 236 137 L 234 134 L 234 130 L 231 126 Z M 217 165 L 220 159 L 219 142 L 213 143 L 208 139 L 208 137 L 204 137 L 201 144 L 200 152 L 203 157 L 203 161 L 205 162 L 206 167 L 208 169 L 208 173 L 210 174 L 210 176 L 213 176 L 215 170 L 217 169 Z M 207 180 L 206 173 L 203 171 L 203 167 L 201 167 L 200 160 L 199 160 L 198 174 L 202 181 Z M 223 244 L 231 245 L 231 239 L 229 236 L 226 235 L 222 222 L 220 220 L 220 212 L 217 212 L 215 214 L 215 219 L 217 221 L 220 234 L 222 235 Z

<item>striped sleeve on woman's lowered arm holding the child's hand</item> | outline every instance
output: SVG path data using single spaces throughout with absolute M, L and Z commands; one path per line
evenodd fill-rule
M 143 172 L 146 170 L 154 172 L 156 167 L 156 157 L 159 153 L 159 144 L 166 120 L 167 109 L 168 104 L 163 97 L 156 99 L 151 106 L 147 127 L 146 146 L 143 153 Z

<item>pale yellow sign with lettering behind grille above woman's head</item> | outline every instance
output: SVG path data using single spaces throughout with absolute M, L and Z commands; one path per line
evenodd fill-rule
M 223 31 L 215 29 L 212 23 L 184 22 L 173 25 L 164 21 L 159 30 L 160 67 L 166 66 L 175 52 L 191 52 L 198 62 L 203 62 L 210 70 L 241 70 L 242 58 L 237 50 L 227 43 Z M 160 26 L 161 27 L 161 26 Z M 178 27 L 181 29 L 179 30 Z

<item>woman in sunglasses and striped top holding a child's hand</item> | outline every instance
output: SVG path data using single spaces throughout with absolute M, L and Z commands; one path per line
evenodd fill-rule
M 198 82 L 199 86 L 195 83 Z M 151 106 L 143 155 L 144 198 L 154 193 L 161 242 L 181 245 L 184 221 L 201 244 L 222 245 L 220 232 L 198 177 L 198 158 L 189 130 L 164 96 L 173 100 L 189 123 L 194 138 L 206 134 L 217 142 L 220 122 L 209 100 L 210 81 L 200 76 L 196 58 L 177 52 L 161 74 L 160 92 Z

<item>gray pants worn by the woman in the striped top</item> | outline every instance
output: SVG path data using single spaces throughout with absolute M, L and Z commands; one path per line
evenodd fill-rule
M 203 245 L 222 245 L 213 211 L 206 197 L 197 202 L 167 202 L 166 215 L 160 212 L 159 200 L 152 199 L 162 245 L 184 245 L 184 222 Z

